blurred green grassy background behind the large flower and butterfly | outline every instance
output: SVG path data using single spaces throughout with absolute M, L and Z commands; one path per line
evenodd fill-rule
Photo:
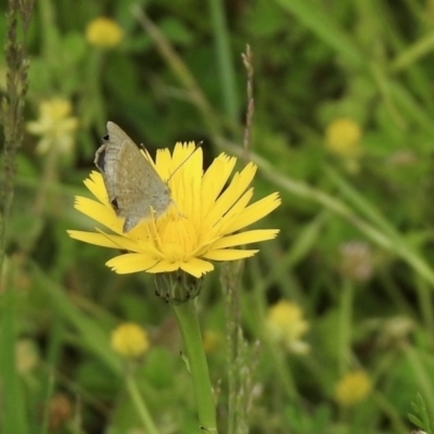
M 405 434 L 408 413 L 432 432 L 432 0 L 38 0 L 25 44 L 0 305 L 2 432 L 145 433 L 110 347 L 125 321 L 150 336 L 136 376 L 158 430 L 195 429 L 180 336 L 152 277 L 113 273 L 113 252 L 66 230 L 94 228 L 73 205 L 90 196 L 82 181 L 107 120 L 152 155 L 195 140 L 206 164 L 227 152 L 242 167 L 246 44 L 255 197 L 282 196 L 258 225 L 281 232 L 245 260 L 239 288 L 246 340 L 260 340 L 247 358 L 251 432 Z M 3 95 L 5 82 L 3 55 Z M 220 286 L 216 264 L 199 306 L 226 433 Z M 279 317 L 279 302 L 296 314 Z

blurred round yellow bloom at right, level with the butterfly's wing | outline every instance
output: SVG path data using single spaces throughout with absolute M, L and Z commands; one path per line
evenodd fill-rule
M 337 155 L 359 156 L 361 154 L 360 140 L 361 128 L 359 124 L 347 117 L 334 119 L 327 127 L 326 148 Z

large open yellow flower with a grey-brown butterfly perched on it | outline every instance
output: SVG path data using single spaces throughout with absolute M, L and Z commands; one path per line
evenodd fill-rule
M 76 197 L 75 207 L 101 222 L 113 233 L 68 231 L 76 240 L 128 251 L 107 261 L 118 273 L 146 271 L 151 273 L 183 270 L 200 278 L 214 269 L 210 260 L 235 260 L 253 256 L 257 250 L 238 250 L 240 245 L 271 240 L 277 229 L 240 232 L 260 220 L 280 205 L 278 193 L 253 204 L 252 182 L 256 166 L 248 163 L 228 184 L 237 158 L 220 154 L 208 169 L 202 169 L 202 149 L 177 143 L 173 154 L 166 149 L 157 152 L 155 169 L 168 179 L 171 199 L 158 218 L 142 221 L 129 232 L 123 232 L 124 218 L 108 203 L 102 176 L 92 171 L 86 187 L 98 201 Z M 154 164 L 149 154 L 145 156 Z

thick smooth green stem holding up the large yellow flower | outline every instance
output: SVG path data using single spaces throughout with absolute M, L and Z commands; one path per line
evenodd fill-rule
M 194 302 L 173 304 L 171 307 L 182 333 L 186 355 L 193 380 L 201 432 L 217 433 L 213 390 Z

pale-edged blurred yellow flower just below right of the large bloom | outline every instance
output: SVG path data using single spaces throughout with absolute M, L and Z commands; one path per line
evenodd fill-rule
M 309 350 L 309 345 L 301 340 L 308 329 L 302 309 L 293 303 L 280 301 L 268 309 L 266 330 L 269 339 L 293 353 L 306 354 Z

